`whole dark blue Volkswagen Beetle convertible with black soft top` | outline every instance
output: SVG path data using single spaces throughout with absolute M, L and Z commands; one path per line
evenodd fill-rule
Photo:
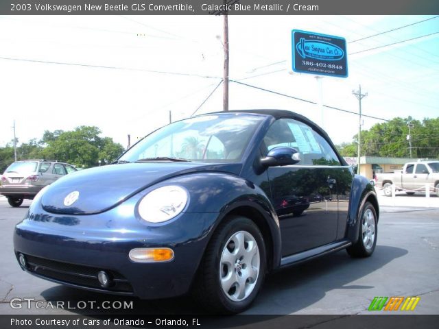
M 265 276 L 346 249 L 370 256 L 379 206 L 315 123 L 285 110 L 204 114 L 117 162 L 40 191 L 14 232 L 23 270 L 144 299 L 189 291 L 216 313 L 250 306 Z

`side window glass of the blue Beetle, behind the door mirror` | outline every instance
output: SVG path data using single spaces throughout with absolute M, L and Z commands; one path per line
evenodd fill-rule
M 263 139 L 265 154 L 274 147 L 294 147 L 300 153 L 298 164 L 340 166 L 340 160 L 329 143 L 305 123 L 278 119 Z

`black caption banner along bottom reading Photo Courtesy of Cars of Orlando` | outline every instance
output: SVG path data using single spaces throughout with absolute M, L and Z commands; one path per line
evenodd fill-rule
M 233 315 L 233 316 L 89 316 L 0 315 L 0 328 L 398 328 L 436 329 L 439 315 Z

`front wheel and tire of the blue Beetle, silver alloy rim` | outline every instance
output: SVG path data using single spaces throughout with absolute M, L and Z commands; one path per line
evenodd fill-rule
M 265 243 L 259 228 L 246 217 L 230 217 L 206 247 L 193 295 L 209 313 L 241 313 L 256 299 L 265 269 Z

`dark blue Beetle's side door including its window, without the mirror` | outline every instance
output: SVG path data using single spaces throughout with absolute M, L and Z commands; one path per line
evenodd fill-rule
M 294 147 L 300 162 L 269 167 L 270 195 L 281 226 L 282 256 L 325 245 L 337 237 L 340 161 L 322 136 L 293 119 L 278 119 L 263 140 L 263 153 Z M 328 146 L 328 147 L 324 147 Z M 331 152 L 332 151 L 332 152 Z

